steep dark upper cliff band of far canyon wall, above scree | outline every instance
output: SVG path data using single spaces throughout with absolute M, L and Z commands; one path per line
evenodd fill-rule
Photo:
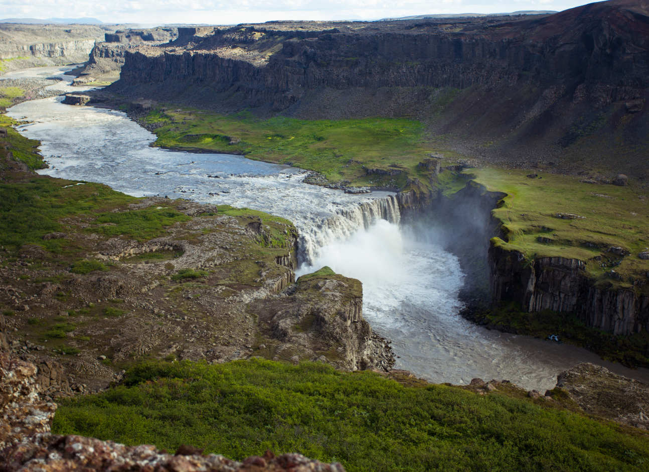
M 236 36 L 234 29 L 195 36 L 190 48 L 165 49 L 148 60 L 146 52 L 134 53 L 122 81 L 236 85 L 251 96 L 286 94 L 291 101 L 321 88 L 560 83 L 573 91 L 603 86 L 611 101 L 649 85 L 645 14 L 606 2 L 541 19 L 459 21 L 454 28 L 396 21 L 352 30 L 342 23 L 306 34 L 256 25 Z

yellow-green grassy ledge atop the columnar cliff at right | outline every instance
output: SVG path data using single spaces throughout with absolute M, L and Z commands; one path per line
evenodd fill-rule
M 637 255 L 649 246 L 649 195 L 633 181 L 628 187 L 581 183 L 578 177 L 499 168 L 471 169 L 474 180 L 489 190 L 506 192 L 493 215 L 502 222 L 505 240 L 495 244 L 518 250 L 529 259 L 566 257 L 581 259 L 586 271 L 598 283 L 633 290 L 633 280 L 646 280 L 649 261 Z M 556 218 L 557 213 L 583 216 L 575 220 Z M 612 246 L 625 248 L 629 256 L 608 252 Z M 614 269 L 622 281 L 613 280 Z

